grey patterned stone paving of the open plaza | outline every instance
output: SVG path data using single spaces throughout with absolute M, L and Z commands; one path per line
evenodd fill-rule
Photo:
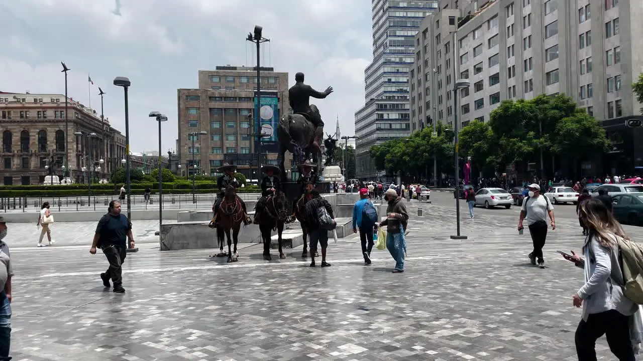
M 98 277 L 104 256 L 87 246 L 14 247 L 14 359 L 576 360 L 571 296 L 583 274 L 556 253 L 580 247 L 575 218 L 559 218 L 543 270 L 529 265 L 517 209 L 476 209 L 462 222 L 469 239 L 454 241 L 453 206 L 408 207 L 404 274 L 390 272 L 387 251 L 363 265 L 355 236 L 331 241 L 325 269 L 301 249 L 268 262 L 244 245 L 228 264 L 150 243 L 128 254 L 127 292 L 113 294 Z M 19 237 L 10 229 L 6 241 Z M 611 359 L 604 340 L 597 352 Z

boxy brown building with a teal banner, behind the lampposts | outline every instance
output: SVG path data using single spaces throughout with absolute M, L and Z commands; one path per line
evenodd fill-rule
M 199 89 L 178 89 L 177 154 L 183 175 L 216 175 L 216 168 L 230 163 L 246 178 L 257 179 L 257 163 L 278 163 L 276 125 L 291 112 L 288 73 L 262 67 L 260 76 L 260 122 L 256 120 L 256 67 L 199 71 Z M 191 135 L 202 131 L 207 134 Z M 292 172 L 291 159 L 287 153 L 285 168 Z

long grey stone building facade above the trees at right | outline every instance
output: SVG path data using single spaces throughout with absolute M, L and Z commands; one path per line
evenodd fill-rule
M 445 3 L 445 6 L 442 6 Z M 500 101 L 566 94 L 599 121 L 638 114 L 631 90 L 643 69 L 643 2 L 618 0 L 471 1 L 422 21 L 415 36 L 412 131 L 437 119 L 458 128 L 489 121 Z M 462 3 L 462 1 L 461 1 Z M 451 6 L 448 6 L 451 4 Z

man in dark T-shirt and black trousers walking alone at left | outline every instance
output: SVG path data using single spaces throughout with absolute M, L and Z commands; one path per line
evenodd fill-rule
M 134 248 L 134 236 L 132 236 L 132 224 L 120 211 L 118 200 L 109 202 L 109 212 L 98 221 L 89 253 L 96 254 L 96 247 L 103 250 L 109 262 L 109 269 L 100 274 L 103 285 L 109 288 L 111 286 L 109 279 L 111 279 L 114 283 L 114 292 L 122 294 L 125 292 L 122 276 L 123 261 L 127 252 L 125 237 L 129 238 L 130 248 Z

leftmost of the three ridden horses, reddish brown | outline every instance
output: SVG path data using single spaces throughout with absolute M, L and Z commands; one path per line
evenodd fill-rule
M 217 227 L 217 240 L 219 240 L 219 249 L 223 254 L 223 236 L 225 234 L 228 239 L 228 262 L 239 261 L 239 252 L 237 251 L 237 242 L 239 242 L 239 229 L 241 229 L 241 222 L 243 222 L 244 211 L 241 206 L 239 198 L 237 198 L 237 190 L 233 186 L 227 186 L 223 200 L 219 205 L 219 227 Z M 230 238 L 230 231 L 232 231 L 232 238 Z M 234 252 L 231 249 L 232 241 L 234 240 Z

